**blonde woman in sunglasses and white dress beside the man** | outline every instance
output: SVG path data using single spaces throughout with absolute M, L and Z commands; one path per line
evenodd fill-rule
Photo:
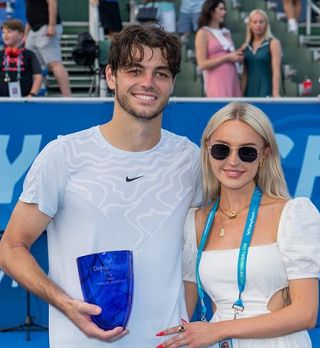
M 209 121 L 201 143 L 204 205 L 185 223 L 189 315 L 197 295 L 212 300 L 210 322 L 158 333 L 158 346 L 311 348 L 318 309 L 320 215 L 291 199 L 267 116 L 231 103 Z

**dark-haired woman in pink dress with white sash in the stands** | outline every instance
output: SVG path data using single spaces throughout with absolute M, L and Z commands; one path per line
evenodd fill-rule
M 235 50 L 230 31 L 223 27 L 225 15 L 223 0 L 204 2 L 195 48 L 207 97 L 241 96 L 236 63 L 242 62 L 243 54 L 241 50 Z

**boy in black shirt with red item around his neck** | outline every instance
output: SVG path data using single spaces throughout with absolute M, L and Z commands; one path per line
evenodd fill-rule
M 9 19 L 2 25 L 5 48 L 0 51 L 0 96 L 35 97 L 41 86 L 41 66 L 36 55 L 22 47 L 24 27 Z

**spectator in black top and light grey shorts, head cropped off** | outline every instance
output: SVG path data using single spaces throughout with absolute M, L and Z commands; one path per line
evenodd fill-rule
M 26 0 L 26 48 L 52 71 L 61 94 L 70 97 L 69 76 L 61 61 L 62 25 L 57 7 L 57 0 Z

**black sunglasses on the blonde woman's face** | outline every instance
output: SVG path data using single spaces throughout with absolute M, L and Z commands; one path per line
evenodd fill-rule
M 214 159 L 222 161 L 230 155 L 231 148 L 225 144 L 214 144 L 208 147 L 208 151 Z M 242 162 L 253 162 L 258 157 L 258 150 L 252 146 L 241 146 L 238 149 L 238 156 Z

